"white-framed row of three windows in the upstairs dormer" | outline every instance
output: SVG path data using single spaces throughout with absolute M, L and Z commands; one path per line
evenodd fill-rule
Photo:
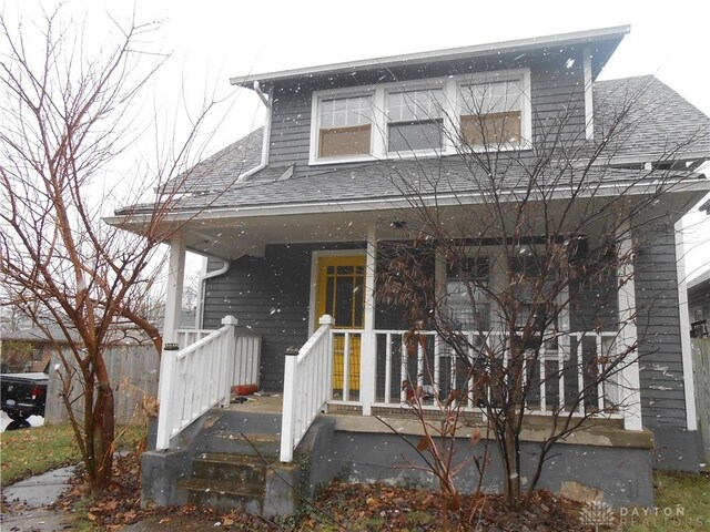
M 314 93 L 311 164 L 530 146 L 529 70 Z

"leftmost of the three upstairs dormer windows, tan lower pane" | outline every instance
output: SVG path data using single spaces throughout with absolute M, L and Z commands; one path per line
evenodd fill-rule
M 318 113 L 318 158 L 372 153 L 372 96 L 323 99 Z

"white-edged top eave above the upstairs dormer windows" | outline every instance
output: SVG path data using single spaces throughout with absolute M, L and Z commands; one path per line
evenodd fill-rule
M 342 63 L 332 63 L 320 66 L 308 66 L 303 69 L 282 70 L 275 72 L 265 72 L 262 74 L 250 74 L 245 76 L 231 78 L 230 83 L 233 85 L 252 89 L 255 81 L 260 83 L 271 83 L 277 81 L 287 81 L 293 79 L 315 78 L 324 74 L 337 74 L 344 72 L 358 72 L 375 69 L 394 69 L 397 66 L 408 66 L 418 63 L 430 63 L 439 61 L 456 61 L 462 59 L 471 59 L 491 53 L 523 52 L 528 50 L 544 49 L 551 45 L 565 47 L 572 44 L 586 44 L 598 41 L 621 41 L 623 35 L 629 33 L 631 27 L 616 25 L 610 28 L 600 28 L 595 30 L 578 31 L 571 33 L 560 33 L 554 35 L 535 37 L 527 39 L 517 39 L 513 41 L 501 41 L 486 44 L 476 44 L 471 47 L 452 48 L 446 50 L 436 50 L 428 52 L 407 53 L 399 55 L 389 55 L 384 58 L 367 59 L 362 61 L 351 61 Z M 616 48 L 616 45 L 615 45 Z M 597 65 L 596 71 L 602 65 Z

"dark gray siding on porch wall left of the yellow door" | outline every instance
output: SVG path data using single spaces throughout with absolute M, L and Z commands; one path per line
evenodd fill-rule
M 362 249 L 362 244 L 270 245 L 263 258 L 242 257 L 227 274 L 207 280 L 204 328 L 216 329 L 224 316 L 261 335 L 261 386 L 283 391 L 284 352 L 308 339 L 311 257 L 315 249 Z

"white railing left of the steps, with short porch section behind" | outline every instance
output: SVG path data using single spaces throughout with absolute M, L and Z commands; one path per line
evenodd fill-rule
M 163 351 L 156 449 L 168 449 L 171 439 L 219 402 L 229 405 L 233 385 L 258 382 L 261 337 L 239 336 L 232 316 L 222 324 L 212 331 L 181 331 L 180 341 L 195 341 Z

